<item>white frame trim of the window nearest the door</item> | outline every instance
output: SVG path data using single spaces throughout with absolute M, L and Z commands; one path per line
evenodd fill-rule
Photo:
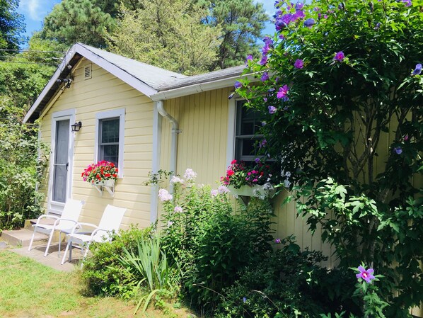
M 100 120 L 108 118 L 119 118 L 119 161 L 117 163 L 119 172 L 118 178 L 123 178 L 123 154 L 124 154 L 124 116 L 125 109 L 108 110 L 95 115 L 95 151 L 94 151 L 94 162 L 98 162 L 98 142 L 100 141 Z

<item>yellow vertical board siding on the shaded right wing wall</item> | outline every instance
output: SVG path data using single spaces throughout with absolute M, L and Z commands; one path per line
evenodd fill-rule
M 217 186 L 226 173 L 228 147 L 228 114 L 230 89 L 218 89 L 166 101 L 164 107 L 178 120 L 182 132 L 178 135 L 177 174 L 191 168 L 198 174 L 197 183 Z M 171 125 L 163 119 L 161 169 L 169 169 Z M 333 263 L 328 244 L 322 244 L 320 231 L 312 236 L 306 220 L 296 217 L 294 203 L 284 205 L 285 195 L 273 200 L 275 237 L 296 236 L 301 248 L 321 250 L 329 257 L 324 265 Z

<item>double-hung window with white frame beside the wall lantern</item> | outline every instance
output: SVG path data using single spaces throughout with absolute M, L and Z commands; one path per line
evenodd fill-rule
M 114 163 L 123 176 L 124 109 L 110 110 L 96 115 L 96 161 Z

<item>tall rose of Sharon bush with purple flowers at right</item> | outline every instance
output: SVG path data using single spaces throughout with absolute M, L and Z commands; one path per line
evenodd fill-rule
M 423 300 L 423 2 L 276 5 L 249 62 L 263 85 L 238 89 L 266 116 L 262 152 L 340 266 L 373 266 L 389 316 L 407 317 Z

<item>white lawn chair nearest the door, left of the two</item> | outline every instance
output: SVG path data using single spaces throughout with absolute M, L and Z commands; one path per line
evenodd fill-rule
M 63 208 L 62 215 L 56 216 L 56 215 L 40 215 L 37 219 L 37 223 L 33 225 L 34 232 L 33 237 L 31 237 L 30 246 L 28 247 L 28 251 L 31 250 L 31 247 L 33 246 L 33 241 L 35 237 L 36 232 L 41 232 L 43 234 L 49 235 L 49 240 L 47 243 L 47 247 L 45 248 L 44 256 L 47 256 L 47 253 L 50 248 L 50 244 L 52 243 L 52 238 L 54 231 L 59 231 L 59 253 L 60 253 L 60 233 L 61 232 L 71 232 L 72 229 L 74 229 L 75 225 L 78 224 L 79 215 L 81 214 L 83 202 L 80 200 L 74 200 L 74 199 L 67 199 L 66 203 Z M 42 219 L 55 219 L 54 223 L 52 225 L 42 224 Z

